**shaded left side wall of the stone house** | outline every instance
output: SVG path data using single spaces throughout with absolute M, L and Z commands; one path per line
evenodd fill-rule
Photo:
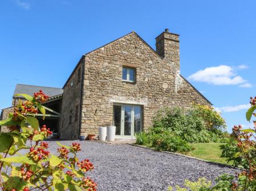
M 79 138 L 82 62 L 84 62 L 83 58 L 81 58 L 71 77 L 69 77 L 67 83 L 64 85 L 59 128 L 61 139 L 73 140 Z

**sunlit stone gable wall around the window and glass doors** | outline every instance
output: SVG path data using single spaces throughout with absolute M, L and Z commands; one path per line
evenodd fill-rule
M 152 125 L 152 117 L 164 106 L 188 107 L 192 101 L 210 105 L 181 77 L 178 35 L 171 37 L 176 39 L 165 51 L 175 55 L 169 52 L 166 55 L 171 56 L 164 58 L 135 32 L 86 54 L 81 133 L 98 133 L 98 126 L 112 122 L 113 103 L 141 104 L 144 129 Z M 122 66 L 136 69 L 135 83 L 122 81 Z

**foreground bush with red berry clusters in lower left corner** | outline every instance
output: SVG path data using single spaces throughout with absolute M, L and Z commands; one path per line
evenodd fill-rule
M 94 190 L 96 183 L 85 173 L 93 169 L 89 159 L 79 160 L 79 143 L 65 146 L 58 143 L 58 155 L 48 151 L 48 143 L 42 142 L 52 131 L 39 122 L 35 114 L 45 116 L 42 105 L 48 99 L 43 91 L 34 96 L 20 94 L 27 101 L 19 101 L 14 112 L 0 125 L 9 127 L 9 133 L 0 133 L 0 188 L 4 191 L 28 190 Z M 30 142 L 30 147 L 26 142 Z M 26 150 L 26 154 L 19 154 Z M 18 156 L 13 156 L 13 155 Z M 8 170 L 10 169 L 10 171 Z

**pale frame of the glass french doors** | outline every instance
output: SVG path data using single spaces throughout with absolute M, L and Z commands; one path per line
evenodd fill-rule
M 121 106 L 121 135 L 115 135 L 115 138 L 119 139 L 135 139 L 134 135 L 134 108 L 140 107 L 141 108 L 141 131 L 142 131 L 142 105 L 132 105 L 132 104 L 119 104 L 114 103 L 114 105 Z M 131 107 L 131 135 L 124 135 L 125 134 L 125 106 Z M 114 125 L 114 108 L 113 108 L 113 125 Z

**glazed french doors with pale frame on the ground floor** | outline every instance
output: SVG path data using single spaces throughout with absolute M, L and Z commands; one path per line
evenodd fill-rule
M 141 106 L 115 104 L 113 124 L 116 138 L 135 138 L 135 133 L 142 130 Z

